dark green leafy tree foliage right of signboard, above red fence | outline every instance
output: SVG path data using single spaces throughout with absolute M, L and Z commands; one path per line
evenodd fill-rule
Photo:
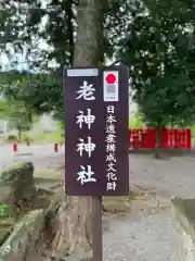
M 134 99 L 154 125 L 195 116 L 194 13 L 185 1 L 145 1 L 128 24 L 119 57 L 130 67 Z

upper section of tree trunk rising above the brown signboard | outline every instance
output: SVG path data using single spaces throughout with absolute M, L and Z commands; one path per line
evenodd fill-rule
M 74 66 L 98 65 L 102 57 L 103 0 L 80 0 Z

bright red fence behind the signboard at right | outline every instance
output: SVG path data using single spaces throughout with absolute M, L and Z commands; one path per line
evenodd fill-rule
M 129 148 L 154 149 L 156 145 L 156 129 L 129 129 Z M 191 149 L 191 129 L 161 129 L 160 148 Z

